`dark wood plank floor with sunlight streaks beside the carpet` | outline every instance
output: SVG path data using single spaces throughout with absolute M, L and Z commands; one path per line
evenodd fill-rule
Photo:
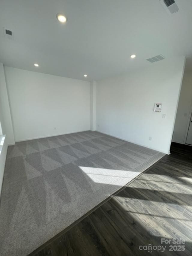
M 168 244 L 151 255 L 192 255 L 191 186 L 192 147 L 172 143 L 170 155 L 31 255 L 150 255 L 139 246 L 161 238 L 184 239 L 185 250 Z

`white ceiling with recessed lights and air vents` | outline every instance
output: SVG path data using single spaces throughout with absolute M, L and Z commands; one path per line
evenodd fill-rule
M 163 54 L 187 56 L 192 70 L 192 1 L 175 1 L 179 12 L 171 15 L 159 0 L 1 0 L 0 62 L 100 80 L 155 65 L 146 59 Z M 4 38 L 3 27 L 14 32 L 13 41 Z

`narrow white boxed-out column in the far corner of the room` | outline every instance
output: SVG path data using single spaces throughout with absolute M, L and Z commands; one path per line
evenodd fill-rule
M 90 82 L 90 130 L 96 130 L 96 94 L 97 94 L 96 81 Z

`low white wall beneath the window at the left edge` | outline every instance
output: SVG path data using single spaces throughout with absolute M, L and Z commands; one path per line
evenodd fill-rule
M 7 156 L 7 136 L 0 136 L 0 197 L 4 176 L 5 160 Z

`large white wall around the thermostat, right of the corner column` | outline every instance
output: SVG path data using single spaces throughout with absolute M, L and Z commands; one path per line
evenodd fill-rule
M 184 65 L 184 57 L 166 59 L 98 81 L 97 130 L 168 154 Z M 162 103 L 161 113 L 154 113 L 155 102 Z

